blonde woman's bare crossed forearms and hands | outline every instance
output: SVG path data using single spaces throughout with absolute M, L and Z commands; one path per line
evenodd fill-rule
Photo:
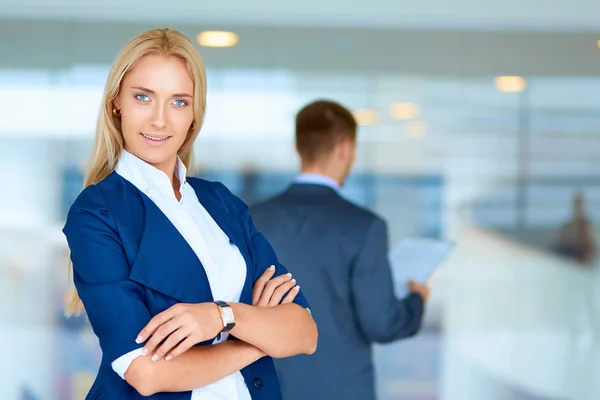
M 271 279 L 273 273 L 274 269 L 265 271 L 254 285 L 253 306 L 230 304 L 236 315 L 230 333 L 239 341 L 190 348 L 223 328 L 213 303 L 178 304 L 158 314 L 139 335 L 142 341 L 150 339 L 144 345 L 145 357 L 135 359 L 125 373 L 127 382 L 142 395 L 193 390 L 265 355 L 312 354 L 316 349 L 312 317 L 292 303 L 298 290 L 291 277 Z

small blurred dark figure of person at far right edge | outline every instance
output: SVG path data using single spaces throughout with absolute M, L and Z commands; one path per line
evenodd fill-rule
M 579 192 L 573 198 L 573 218 L 565 224 L 558 235 L 557 252 L 585 265 L 595 265 L 598 247 L 594 224 L 586 216 L 585 199 Z

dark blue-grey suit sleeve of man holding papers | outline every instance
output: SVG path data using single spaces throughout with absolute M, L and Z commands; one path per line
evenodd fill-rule
M 360 330 L 369 341 L 379 343 L 414 335 L 421 325 L 423 299 L 416 293 L 402 300 L 396 298 L 385 221 L 373 219 L 360 247 L 350 276 Z

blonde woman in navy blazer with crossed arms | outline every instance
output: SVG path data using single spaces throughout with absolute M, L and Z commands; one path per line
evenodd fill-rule
M 280 399 L 272 357 L 316 349 L 308 304 L 246 205 L 186 178 L 205 107 L 202 59 L 176 31 L 138 35 L 110 70 L 63 230 L 69 312 L 83 306 L 103 352 L 87 399 Z

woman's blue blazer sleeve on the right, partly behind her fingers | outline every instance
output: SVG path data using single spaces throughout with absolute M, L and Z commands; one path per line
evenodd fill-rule
M 246 203 L 231 193 L 225 185 L 221 185 L 227 192 L 228 196 L 236 204 L 237 208 L 239 208 L 241 211 L 242 223 L 245 224 L 248 229 L 248 234 L 250 236 L 250 257 L 252 259 L 252 269 L 254 273 L 252 286 L 254 287 L 254 284 L 258 278 L 260 278 L 265 270 L 271 265 L 275 266 L 275 274 L 273 275 L 274 277 L 287 274 L 289 271 L 283 264 L 279 262 L 277 254 L 267 238 L 254 225 L 254 221 L 250 216 L 250 211 L 248 210 Z M 304 297 L 304 293 L 302 293 L 302 289 L 300 289 L 300 292 L 296 295 L 293 303 L 310 310 L 310 306 Z

